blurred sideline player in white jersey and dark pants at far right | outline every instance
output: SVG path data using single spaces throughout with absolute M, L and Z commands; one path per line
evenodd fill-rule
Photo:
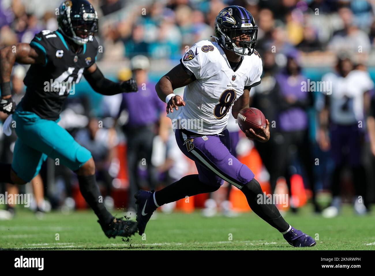
M 335 73 L 327 73 L 322 81 L 332 83 L 332 94 L 326 95 L 320 111 L 318 142 L 323 151 L 330 149 L 334 161 L 331 176 L 332 202 L 324 217 L 335 217 L 341 210 L 341 179 L 349 167 L 355 189 L 353 199 L 357 214 L 366 213 L 366 171 L 361 160 L 364 143 L 364 114 L 370 105 L 369 90 L 374 88 L 368 72 L 354 69 L 353 61 L 339 54 Z M 367 110 L 367 111 L 366 111 Z M 371 128 L 371 120 L 370 120 Z

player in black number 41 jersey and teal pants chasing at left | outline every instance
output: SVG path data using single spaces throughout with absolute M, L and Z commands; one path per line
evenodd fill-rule
M 103 95 L 138 90 L 133 79 L 115 83 L 96 65 L 98 14 L 86 0 L 66 0 L 59 8 L 58 30 L 43 30 L 30 44 L 18 43 L 0 50 L 0 111 L 10 113 L 18 139 L 12 164 L 0 163 L 0 182 L 26 184 L 47 157 L 58 160 L 78 175 L 80 190 L 98 216 L 105 235 L 127 237 L 136 223 L 116 219 L 104 206 L 95 179 L 91 153 L 57 122 L 72 85 L 82 76 Z M 31 64 L 24 83 L 26 95 L 15 106 L 10 95 L 10 74 L 15 62 Z M 14 125 L 14 124 L 13 124 Z

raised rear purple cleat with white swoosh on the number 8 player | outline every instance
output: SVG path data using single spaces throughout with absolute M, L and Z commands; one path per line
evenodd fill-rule
M 156 210 L 156 205 L 154 204 L 154 191 L 148 192 L 145 190 L 139 190 L 134 195 L 137 205 L 137 226 L 138 234 L 142 235 L 146 228 L 146 224 L 152 213 Z

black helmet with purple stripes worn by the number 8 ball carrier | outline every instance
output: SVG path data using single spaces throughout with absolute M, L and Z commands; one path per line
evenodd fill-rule
M 253 16 L 241 6 L 228 6 L 216 17 L 215 39 L 229 51 L 250 56 L 254 53 L 257 36 L 258 27 Z

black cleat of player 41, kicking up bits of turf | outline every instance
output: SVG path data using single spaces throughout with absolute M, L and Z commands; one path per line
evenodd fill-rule
M 115 238 L 116 236 L 130 237 L 138 231 L 137 223 L 131 220 L 116 219 L 113 217 L 110 224 L 101 223 L 99 220 L 98 222 L 108 238 Z

